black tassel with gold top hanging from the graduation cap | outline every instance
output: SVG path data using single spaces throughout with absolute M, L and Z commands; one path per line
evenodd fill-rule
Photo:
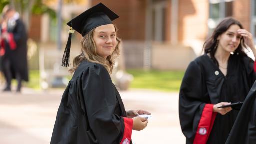
M 72 27 L 70 28 L 70 30 L 68 31 L 69 36 L 68 36 L 68 40 L 66 43 L 66 48 L 65 48 L 65 52 L 62 58 L 62 66 L 64 67 L 68 67 L 69 66 L 69 57 L 70 57 L 70 48 L 71 48 L 71 40 L 72 40 L 72 33 L 74 33 L 74 30 L 72 30 Z

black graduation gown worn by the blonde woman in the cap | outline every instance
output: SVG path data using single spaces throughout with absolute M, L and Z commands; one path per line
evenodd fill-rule
M 54 125 L 54 143 L 120 143 L 126 111 L 107 70 L 83 61 L 65 89 Z

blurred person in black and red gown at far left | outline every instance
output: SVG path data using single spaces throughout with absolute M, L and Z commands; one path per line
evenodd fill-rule
M 16 92 L 21 92 L 22 80 L 28 81 L 27 32 L 14 8 L 6 5 L 3 13 L 7 20 L 7 27 L 1 32 L 1 66 L 6 80 L 3 91 L 11 91 L 11 80 L 16 79 Z

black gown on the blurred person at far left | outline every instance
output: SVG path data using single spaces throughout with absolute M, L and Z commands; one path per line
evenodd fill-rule
M 13 34 L 16 49 L 11 50 L 8 41 L 4 40 L 5 54 L 2 56 L 1 62 L 4 63 L 6 59 L 10 61 L 13 79 L 16 76 L 15 72 L 18 72 L 22 80 L 28 81 L 27 32 L 25 25 L 20 19 L 17 19 L 15 26 L 8 28 L 8 32 Z M 2 71 L 6 72 L 4 68 L 2 68 Z

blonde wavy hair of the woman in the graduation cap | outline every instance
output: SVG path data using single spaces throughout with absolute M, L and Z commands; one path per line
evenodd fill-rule
M 114 28 L 115 28 L 115 31 L 117 34 L 117 27 L 115 25 L 114 25 Z M 93 40 L 94 30 L 95 30 L 95 28 L 92 29 L 90 32 L 88 32 L 81 39 L 81 45 L 82 45 L 81 53 L 74 58 L 73 67 L 68 70 L 69 72 L 73 73 L 83 60 L 87 60 L 89 62 L 98 63 L 98 64 L 103 65 L 110 74 L 112 73 L 113 67 L 115 64 L 115 60 L 120 54 L 119 46 L 120 46 L 121 40 L 120 40 L 120 38 L 118 38 L 116 36 L 116 40 L 117 40 L 116 47 L 115 47 L 113 53 L 111 55 L 107 56 L 107 58 L 105 59 L 105 58 L 99 56 L 96 52 L 96 44 Z

